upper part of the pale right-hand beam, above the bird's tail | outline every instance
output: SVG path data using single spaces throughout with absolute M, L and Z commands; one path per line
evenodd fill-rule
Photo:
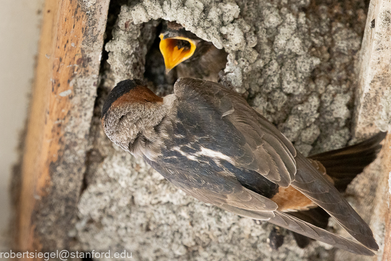
M 391 1 L 371 0 L 357 68 L 355 122 L 357 137 L 386 130 L 391 95 Z M 388 101 L 387 101 L 388 96 Z M 388 105 L 389 106 L 389 105 Z M 383 118 L 382 118 L 383 117 Z M 387 116 L 385 117 L 387 118 Z M 388 120 L 388 122 L 386 122 Z

